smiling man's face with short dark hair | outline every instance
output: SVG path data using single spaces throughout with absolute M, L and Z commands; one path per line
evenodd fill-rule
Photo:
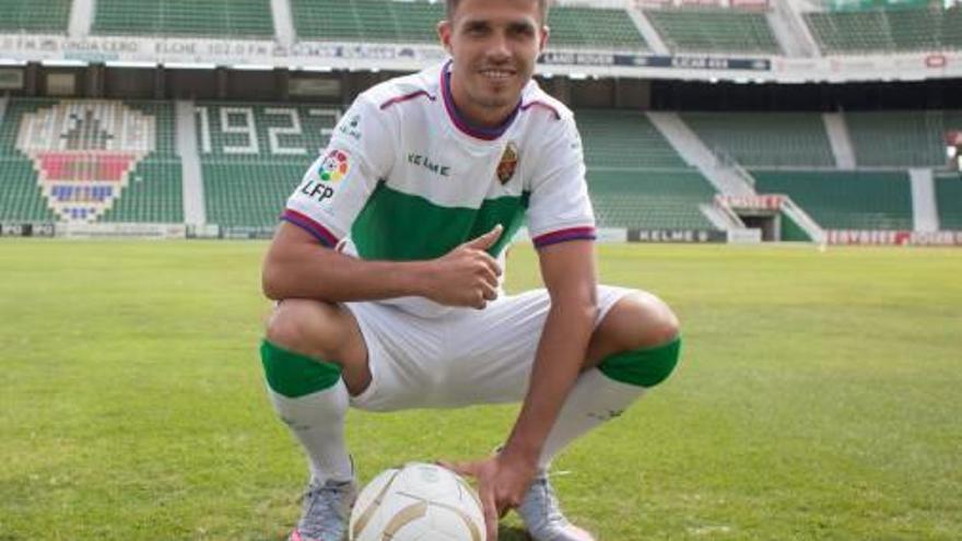
M 461 0 L 451 20 L 438 25 L 438 34 L 454 58 L 457 104 L 477 116 L 517 105 L 548 28 L 537 0 Z

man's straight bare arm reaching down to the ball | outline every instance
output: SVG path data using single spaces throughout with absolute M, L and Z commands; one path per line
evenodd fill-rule
M 498 516 L 520 505 L 531 483 L 544 440 L 585 362 L 597 313 L 591 240 L 545 246 L 539 256 L 551 308 L 521 412 L 496 457 L 467 464 L 446 464 L 478 478 L 490 541 L 497 539 Z

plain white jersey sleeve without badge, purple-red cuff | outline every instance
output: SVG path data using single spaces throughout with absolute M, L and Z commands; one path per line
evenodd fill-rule
M 549 136 L 531 180 L 527 222 L 537 248 L 596 236 L 582 138 L 571 116 L 560 125 Z

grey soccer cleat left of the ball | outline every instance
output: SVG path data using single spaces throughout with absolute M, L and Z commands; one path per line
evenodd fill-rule
M 304 513 L 289 541 L 344 541 L 348 518 L 357 497 L 357 483 L 328 480 L 310 482 L 304 493 Z

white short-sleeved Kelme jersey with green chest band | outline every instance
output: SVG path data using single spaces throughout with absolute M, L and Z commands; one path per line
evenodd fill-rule
M 531 81 L 503 126 L 479 129 L 450 97 L 449 62 L 364 92 L 288 201 L 283 220 L 363 259 L 441 257 L 502 224 L 503 255 L 527 223 L 535 245 L 595 238 L 580 137 Z M 400 301 L 400 303 L 398 303 Z M 421 314 L 423 298 L 392 304 Z

